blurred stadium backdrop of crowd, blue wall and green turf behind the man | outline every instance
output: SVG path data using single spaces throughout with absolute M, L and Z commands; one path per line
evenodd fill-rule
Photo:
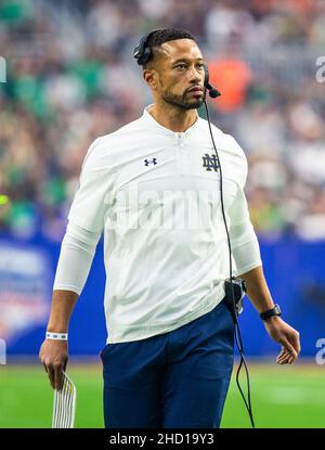
M 51 426 L 52 390 L 37 355 L 81 163 L 95 137 L 151 103 L 132 50 L 146 31 L 169 26 L 198 38 L 222 92 L 209 102 L 211 119 L 247 155 L 266 280 L 301 334 L 300 361 L 276 367 L 278 347 L 246 301 L 257 426 L 325 425 L 325 82 L 316 77 L 325 1 L 3 0 L 0 427 Z M 101 242 L 69 330 L 77 426 L 103 426 L 103 293 Z M 249 426 L 234 380 L 222 426 Z

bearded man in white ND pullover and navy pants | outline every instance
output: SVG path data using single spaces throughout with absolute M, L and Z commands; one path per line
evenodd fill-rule
M 147 47 L 143 77 L 154 103 L 87 153 L 48 332 L 67 333 L 104 230 L 105 426 L 219 427 L 233 369 L 234 321 L 224 301 L 229 254 L 220 173 L 208 124 L 196 111 L 206 95 L 204 60 L 182 30 L 155 30 Z M 243 191 L 245 155 L 231 136 L 214 126 L 212 132 L 234 274 L 247 282 L 257 311 L 270 316 L 265 329 L 282 344 L 277 363 L 290 364 L 300 351 L 299 334 L 278 317 L 263 277 Z M 66 340 L 44 340 L 40 360 L 55 388 L 67 358 Z

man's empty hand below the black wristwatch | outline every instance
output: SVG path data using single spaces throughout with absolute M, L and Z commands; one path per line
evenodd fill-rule
M 282 344 L 282 350 L 276 358 L 277 364 L 291 364 L 295 362 L 301 349 L 298 331 L 280 317 L 268 319 L 264 321 L 264 325 L 272 339 Z

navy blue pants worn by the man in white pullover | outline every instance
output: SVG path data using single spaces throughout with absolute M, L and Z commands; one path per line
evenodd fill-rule
M 168 333 L 101 352 L 106 428 L 217 428 L 234 363 L 224 300 Z

